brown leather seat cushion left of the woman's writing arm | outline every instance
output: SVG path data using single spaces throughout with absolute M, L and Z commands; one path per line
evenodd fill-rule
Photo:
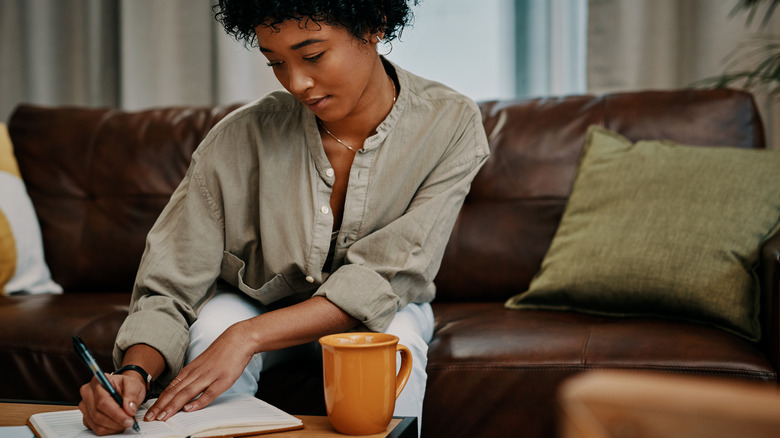
M 114 369 L 114 338 L 130 294 L 92 293 L 0 297 L 0 398 L 70 401 L 92 373 L 73 351 L 73 335 L 100 367 Z

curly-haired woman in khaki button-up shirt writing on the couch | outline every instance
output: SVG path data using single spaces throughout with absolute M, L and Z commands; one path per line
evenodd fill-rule
M 420 417 L 433 279 L 488 148 L 472 101 L 377 53 L 409 21 L 408 3 L 215 6 L 286 92 L 230 114 L 193 154 L 149 233 L 116 340 L 110 379 L 124 406 L 93 379 L 86 426 L 132 425 L 150 380 L 165 390 L 145 420 L 254 394 L 264 366 L 296 359 L 288 347 L 352 329 L 412 350 L 395 413 Z

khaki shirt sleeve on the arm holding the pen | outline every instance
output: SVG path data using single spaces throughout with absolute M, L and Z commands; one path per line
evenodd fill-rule
M 114 362 L 146 344 L 165 358 L 165 384 L 182 368 L 189 326 L 213 289 L 223 253 L 219 209 L 205 190 L 193 160 L 184 180 L 147 236 L 136 276 L 130 314 L 117 335 Z

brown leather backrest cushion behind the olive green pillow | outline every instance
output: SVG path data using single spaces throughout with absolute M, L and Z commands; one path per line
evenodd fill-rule
M 504 301 L 528 288 L 568 199 L 588 126 L 630 140 L 763 148 L 751 95 L 646 91 L 482 102 L 492 155 L 477 175 L 439 270 L 439 300 Z

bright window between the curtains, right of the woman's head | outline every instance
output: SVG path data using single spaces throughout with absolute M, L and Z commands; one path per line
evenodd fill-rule
M 387 58 L 474 100 L 586 90 L 587 0 L 424 0 Z

